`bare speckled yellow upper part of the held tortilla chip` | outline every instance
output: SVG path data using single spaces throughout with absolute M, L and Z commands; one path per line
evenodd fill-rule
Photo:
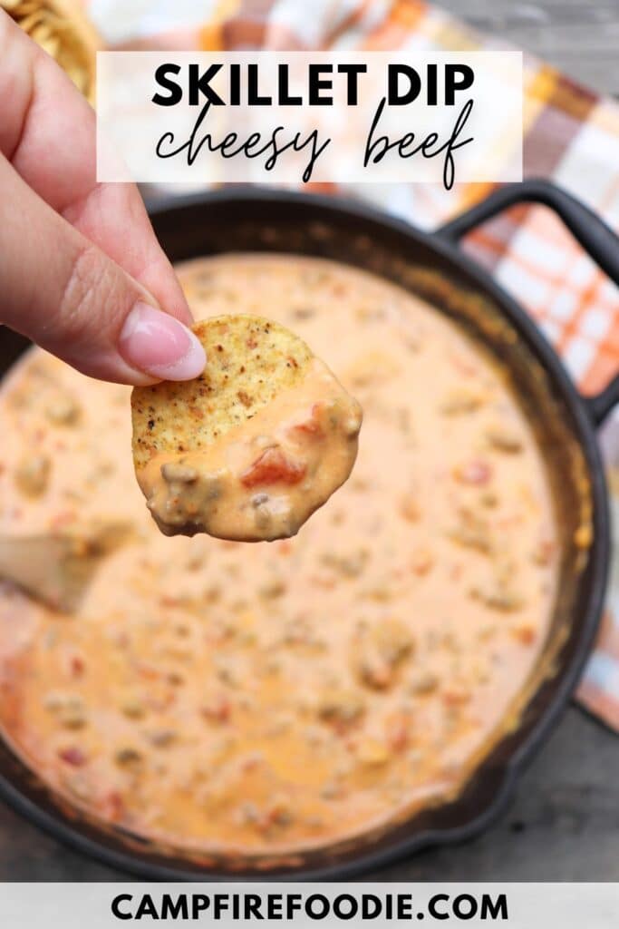
M 297 384 L 314 357 L 302 339 L 259 316 L 197 322 L 207 366 L 192 381 L 134 387 L 133 452 L 139 471 L 160 452 L 200 451 Z

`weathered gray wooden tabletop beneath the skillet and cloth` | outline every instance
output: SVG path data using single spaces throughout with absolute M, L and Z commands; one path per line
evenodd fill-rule
M 477 28 L 619 94 L 619 0 L 445 0 Z M 370 876 L 385 881 L 619 881 L 619 737 L 570 708 L 509 810 L 475 841 Z M 0 805 L 0 880 L 126 880 Z

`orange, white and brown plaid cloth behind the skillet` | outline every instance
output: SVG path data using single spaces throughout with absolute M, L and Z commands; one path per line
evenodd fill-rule
M 418 0 L 86 0 L 104 38 L 125 48 L 246 47 L 497 49 Z M 549 177 L 619 229 L 619 106 L 535 59 L 525 59 L 524 173 Z M 331 185 L 315 185 L 337 192 Z M 490 190 L 469 184 L 348 187 L 432 229 Z M 464 247 L 517 294 L 561 353 L 585 393 L 619 371 L 619 290 L 546 207 L 511 209 L 471 234 Z M 601 436 L 613 509 L 619 517 L 619 416 Z M 619 730 L 619 563 L 603 628 L 579 699 Z

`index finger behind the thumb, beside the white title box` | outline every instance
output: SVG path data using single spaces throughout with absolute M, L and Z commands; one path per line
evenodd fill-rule
M 0 10 L 0 151 L 53 209 L 190 323 L 134 184 L 97 184 L 95 112 L 56 62 Z

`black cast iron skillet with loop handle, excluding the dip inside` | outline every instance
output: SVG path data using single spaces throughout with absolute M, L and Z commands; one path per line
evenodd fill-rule
M 619 283 L 619 241 L 611 230 L 544 181 L 499 189 L 433 234 L 358 203 L 273 190 L 227 189 L 151 209 L 157 234 L 174 261 L 251 250 L 324 255 L 368 268 L 430 298 L 482 339 L 509 371 L 537 425 L 554 478 L 565 548 L 561 592 L 548 648 L 518 725 L 499 738 L 458 799 L 361 840 L 281 860 L 275 869 L 273 862 L 266 866 L 264 861 L 189 860 L 173 849 L 104 829 L 59 804 L 0 743 L 0 796 L 10 805 L 58 839 L 112 867 L 167 880 L 350 878 L 424 846 L 471 838 L 496 817 L 570 699 L 598 627 L 609 563 L 609 517 L 595 427 L 619 399 L 619 378 L 598 397 L 579 396 L 524 310 L 458 248 L 460 237 L 470 229 L 523 202 L 544 203 L 558 213 L 600 268 Z M 18 336 L 2 334 L 2 370 L 25 345 Z M 583 521 L 593 528 L 585 555 L 574 545 L 574 532 Z

